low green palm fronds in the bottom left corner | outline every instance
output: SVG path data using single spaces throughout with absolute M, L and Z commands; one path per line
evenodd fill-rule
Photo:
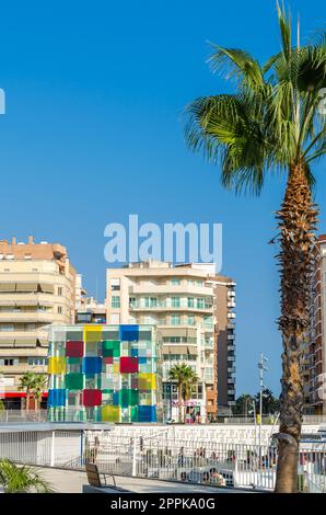
M 19 467 L 9 459 L 0 459 L 0 485 L 4 493 L 53 492 L 50 484 L 32 467 Z

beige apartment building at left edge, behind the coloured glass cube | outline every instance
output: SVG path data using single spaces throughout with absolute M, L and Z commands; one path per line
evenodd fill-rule
M 0 394 L 20 408 L 26 371 L 46 374 L 48 328 L 74 321 L 75 272 L 58 243 L 0 241 Z

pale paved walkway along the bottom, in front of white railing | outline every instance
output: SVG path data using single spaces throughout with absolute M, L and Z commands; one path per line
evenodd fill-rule
M 46 479 L 56 493 L 82 493 L 83 484 L 88 484 L 85 472 L 37 467 L 39 473 Z M 116 484 L 123 489 L 137 493 L 234 493 L 234 489 L 217 489 L 200 484 L 174 483 L 140 478 L 125 478 L 116 476 Z

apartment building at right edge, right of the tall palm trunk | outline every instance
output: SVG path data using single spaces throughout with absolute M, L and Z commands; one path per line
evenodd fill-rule
M 326 414 L 326 234 L 319 236 L 315 250 L 311 294 L 311 328 L 302 353 L 305 411 L 314 414 Z

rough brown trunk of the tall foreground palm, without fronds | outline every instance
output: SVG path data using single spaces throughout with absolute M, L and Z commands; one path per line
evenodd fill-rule
M 305 164 L 290 167 L 286 196 L 277 213 L 281 251 L 282 379 L 280 396 L 279 458 L 276 492 L 298 490 L 298 451 L 302 424 L 303 385 L 300 357 L 308 327 L 312 247 L 317 209 L 312 202 Z

